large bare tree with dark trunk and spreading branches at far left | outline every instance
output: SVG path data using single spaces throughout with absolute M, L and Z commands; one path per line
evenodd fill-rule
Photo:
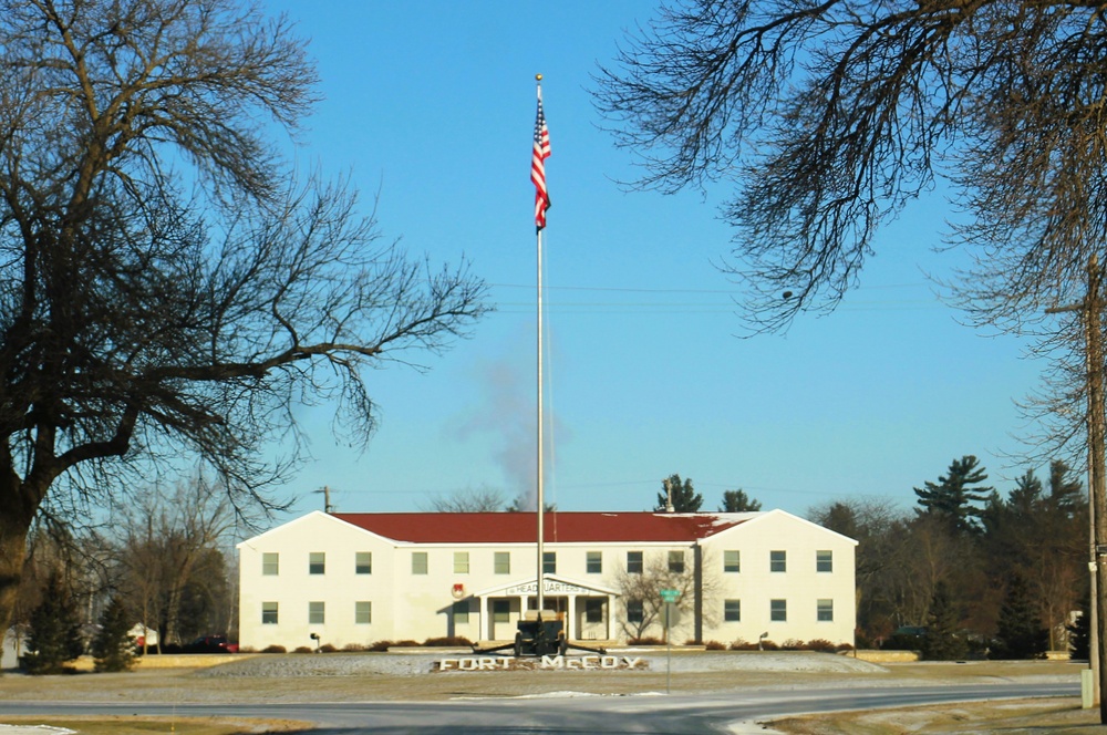
M 278 507 L 296 405 L 333 402 L 364 446 L 365 371 L 448 346 L 485 287 L 292 179 L 267 136 L 317 75 L 257 6 L 0 0 L 0 69 L 3 628 L 48 495 L 108 503 L 198 455 L 239 507 Z

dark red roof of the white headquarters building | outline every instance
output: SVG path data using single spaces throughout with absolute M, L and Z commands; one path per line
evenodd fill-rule
M 412 544 L 529 544 L 534 513 L 335 513 L 339 520 Z M 548 513 L 547 544 L 691 542 L 748 520 L 746 514 Z

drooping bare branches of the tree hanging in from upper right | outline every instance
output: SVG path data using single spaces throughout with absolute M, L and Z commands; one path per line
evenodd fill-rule
M 1079 292 L 1104 248 L 1105 40 L 1072 0 L 680 0 L 596 101 L 640 186 L 736 180 L 727 269 L 753 329 L 831 309 L 940 176 L 969 215 L 951 239 L 979 257 L 966 306 L 1018 322 Z

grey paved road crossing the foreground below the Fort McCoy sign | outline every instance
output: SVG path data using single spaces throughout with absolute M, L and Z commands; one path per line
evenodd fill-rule
M 229 715 L 315 723 L 314 735 L 355 733 L 652 733 L 727 732 L 736 721 L 834 710 L 901 707 L 971 700 L 1079 696 L 1076 683 L 894 686 L 756 691 L 739 697 L 596 696 L 478 702 L 328 704 L 101 704 L 3 702 L 2 715 Z

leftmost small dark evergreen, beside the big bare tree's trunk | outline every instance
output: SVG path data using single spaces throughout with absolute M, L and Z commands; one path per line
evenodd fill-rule
M 58 572 L 46 579 L 42 603 L 31 613 L 30 622 L 29 653 L 20 660 L 27 673 L 60 674 L 68 662 L 84 653 L 81 618 Z

